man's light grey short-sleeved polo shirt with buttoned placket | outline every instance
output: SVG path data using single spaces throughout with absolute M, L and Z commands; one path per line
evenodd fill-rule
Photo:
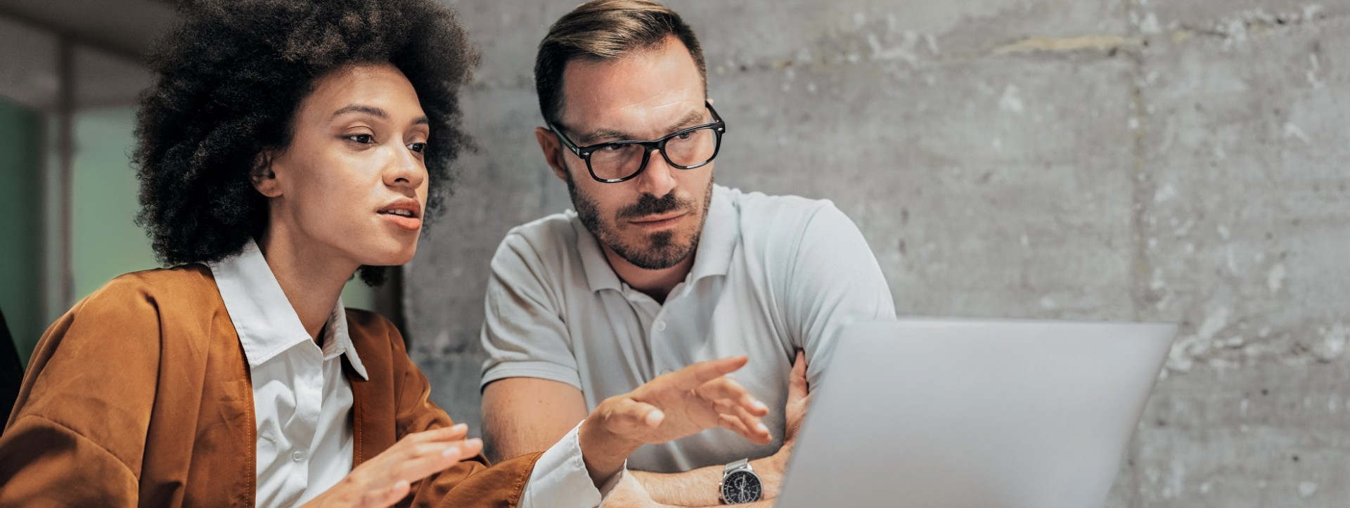
M 657 303 L 628 287 L 567 210 L 513 228 L 491 261 L 483 381 L 539 377 L 582 391 L 586 408 L 693 362 L 747 354 L 732 375 L 768 404 L 774 442 L 724 428 L 643 446 L 629 469 L 682 472 L 770 455 L 796 349 L 814 391 L 840 327 L 895 317 L 857 226 L 825 199 L 714 186 L 694 267 Z

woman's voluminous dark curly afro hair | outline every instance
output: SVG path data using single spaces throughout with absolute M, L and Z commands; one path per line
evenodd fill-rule
M 459 90 L 478 53 L 454 11 L 433 0 L 197 0 L 150 53 L 132 160 L 140 213 L 159 261 L 217 261 L 267 226 L 250 175 L 261 154 L 290 144 L 315 81 L 354 63 L 390 63 L 431 121 L 427 217 L 450 197 L 451 163 L 473 144 Z M 366 283 L 383 279 L 362 267 Z

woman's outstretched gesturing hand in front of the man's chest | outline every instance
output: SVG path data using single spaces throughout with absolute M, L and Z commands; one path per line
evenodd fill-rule
M 741 356 L 697 362 L 601 402 L 579 433 L 591 480 L 602 484 L 641 445 L 679 439 L 705 428 L 725 427 L 760 445 L 772 441 L 760 422 L 768 407 L 740 383 L 725 377 L 747 361 Z

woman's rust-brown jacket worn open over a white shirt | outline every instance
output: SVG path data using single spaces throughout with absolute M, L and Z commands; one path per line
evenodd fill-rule
M 348 310 L 347 325 L 370 376 L 344 361 L 354 464 L 451 424 L 389 321 Z M 38 342 L 0 437 L 0 507 L 252 507 L 255 449 L 248 362 L 211 271 L 127 274 Z M 460 462 L 404 503 L 513 507 L 537 458 Z

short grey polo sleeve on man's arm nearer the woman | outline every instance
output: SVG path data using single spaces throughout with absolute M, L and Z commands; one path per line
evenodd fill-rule
M 508 233 L 493 255 L 485 296 L 483 380 L 536 377 L 582 389 L 549 269 L 522 234 Z

